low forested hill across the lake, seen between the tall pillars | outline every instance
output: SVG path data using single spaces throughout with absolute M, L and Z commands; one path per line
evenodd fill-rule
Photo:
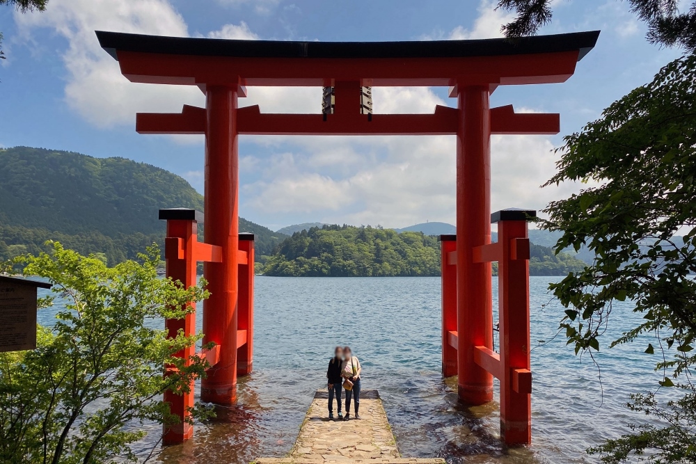
M 566 275 L 585 266 L 551 248 L 530 249 L 531 275 Z M 269 257 L 264 274 L 278 276 L 367 277 L 440 275 L 440 244 L 422 232 L 324 225 L 295 232 Z

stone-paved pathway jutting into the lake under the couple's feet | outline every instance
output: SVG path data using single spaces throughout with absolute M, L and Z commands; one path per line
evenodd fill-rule
M 290 451 L 290 456 L 259 458 L 255 462 L 258 464 L 443 464 L 445 462 L 440 458 L 401 458 L 377 390 L 361 392 L 360 416 L 362 419 L 360 420 L 354 419 L 354 414 L 351 414 L 349 421 L 330 421 L 326 417 L 328 399 L 329 392 L 317 391 L 295 445 Z

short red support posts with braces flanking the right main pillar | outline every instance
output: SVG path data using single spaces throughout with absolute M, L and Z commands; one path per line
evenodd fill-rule
M 529 254 L 526 220 L 536 211 L 503 209 L 491 214 L 498 223 L 498 241 L 472 249 L 474 263 L 498 262 L 498 314 L 500 316 L 500 353 L 485 345 L 473 345 L 473 363 L 477 369 L 500 380 L 500 435 L 506 445 L 529 445 L 532 441 L 532 372 L 530 371 Z M 452 330 L 452 264 L 457 262 L 454 235 L 441 235 L 443 375 L 451 376 L 459 367 L 452 350 L 457 350 L 467 330 Z M 489 277 L 490 279 L 490 277 Z M 492 332 L 493 327 L 489 327 Z M 473 339 L 470 335 L 467 339 Z M 458 350 L 457 350 L 458 351 Z M 452 366 L 454 362 L 454 366 Z

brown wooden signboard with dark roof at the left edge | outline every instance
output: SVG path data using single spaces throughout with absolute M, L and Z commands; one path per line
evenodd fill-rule
M 0 351 L 36 348 L 36 293 L 51 284 L 0 275 Z

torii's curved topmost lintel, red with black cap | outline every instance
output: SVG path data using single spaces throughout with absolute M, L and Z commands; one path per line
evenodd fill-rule
M 133 82 L 243 86 L 454 86 L 568 79 L 599 31 L 507 39 L 288 42 L 97 32 Z M 153 59 L 157 58 L 157 59 Z

